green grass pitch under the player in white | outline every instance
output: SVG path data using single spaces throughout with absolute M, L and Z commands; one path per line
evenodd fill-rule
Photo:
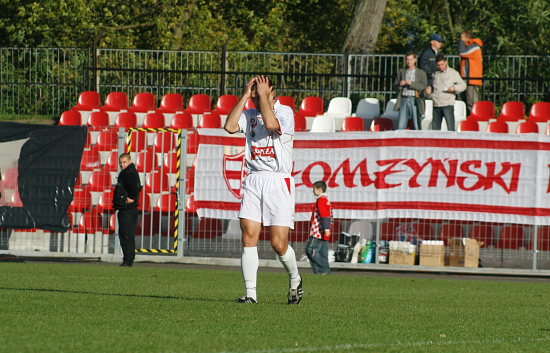
M 0 352 L 549 352 L 550 282 L 0 263 Z

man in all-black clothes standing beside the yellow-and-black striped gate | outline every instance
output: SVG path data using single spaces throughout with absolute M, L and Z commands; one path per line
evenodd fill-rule
M 118 210 L 118 235 L 124 254 L 122 265 L 131 267 L 136 257 L 136 228 L 139 216 L 139 193 L 141 183 L 136 166 L 129 153 L 119 157 L 120 173 L 113 197 L 113 206 Z

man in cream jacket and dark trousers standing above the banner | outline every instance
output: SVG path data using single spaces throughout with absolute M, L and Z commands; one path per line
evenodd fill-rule
M 430 86 L 426 88 L 426 93 L 434 102 L 432 130 L 441 130 L 441 120 L 445 116 L 447 130 L 455 131 L 455 99 L 458 93 L 466 90 L 466 83 L 458 71 L 449 67 L 445 55 L 436 56 L 435 63 L 437 71 L 433 89 Z

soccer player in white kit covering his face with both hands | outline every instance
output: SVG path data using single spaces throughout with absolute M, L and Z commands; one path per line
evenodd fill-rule
M 244 111 L 248 99 L 256 109 Z M 247 84 L 243 96 L 227 117 L 225 130 L 246 135 L 246 165 L 250 173 L 243 185 L 239 219 L 243 253 L 241 267 L 246 295 L 240 303 L 257 303 L 258 242 L 263 226 L 271 226 L 271 246 L 289 274 L 288 304 L 302 300 L 302 278 L 296 255 L 288 244 L 294 226 L 294 178 L 292 149 L 294 113 L 275 101 L 275 91 L 267 76 L 257 76 Z

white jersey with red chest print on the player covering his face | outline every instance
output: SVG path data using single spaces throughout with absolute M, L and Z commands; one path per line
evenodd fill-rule
M 292 148 L 294 145 L 294 113 L 292 108 L 275 102 L 273 109 L 281 127 L 269 131 L 257 109 L 244 111 L 239 127 L 246 135 L 246 165 L 251 173 L 292 172 Z

